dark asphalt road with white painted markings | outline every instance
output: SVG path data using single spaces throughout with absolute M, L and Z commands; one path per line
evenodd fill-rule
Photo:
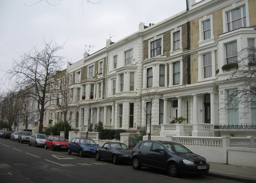
M 206 175 L 169 177 L 165 172 L 142 168 L 134 170 L 131 163 L 113 165 L 96 161 L 95 157 L 68 155 L 0 138 L 1 183 L 235 183 Z

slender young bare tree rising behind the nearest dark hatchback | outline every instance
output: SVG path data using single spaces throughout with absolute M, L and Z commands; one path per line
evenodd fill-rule
M 145 88 L 140 92 L 140 109 L 142 111 L 142 115 L 146 116 L 146 126 L 149 124 L 149 140 L 151 140 L 151 124 L 152 119 L 154 118 L 154 114 L 152 114 L 152 108 L 158 104 L 158 100 L 156 100 L 156 94 L 158 92 L 158 87 L 149 87 Z

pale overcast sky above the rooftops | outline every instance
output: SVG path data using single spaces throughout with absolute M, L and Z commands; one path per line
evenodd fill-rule
M 0 0 L 0 78 L 12 68 L 18 53 L 36 46 L 44 39 L 64 44 L 58 55 L 74 63 L 106 47 L 106 39 L 116 42 L 138 31 L 140 22 L 148 26 L 186 10 L 186 0 Z M 30 6 L 35 4 L 33 6 Z M 0 83 L 0 91 L 3 88 Z

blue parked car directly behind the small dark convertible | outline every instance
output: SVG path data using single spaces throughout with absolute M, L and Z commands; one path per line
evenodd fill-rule
M 98 147 L 98 144 L 90 138 L 73 138 L 68 143 L 68 154 L 72 152 L 79 153 L 80 157 L 84 155 L 95 155 Z

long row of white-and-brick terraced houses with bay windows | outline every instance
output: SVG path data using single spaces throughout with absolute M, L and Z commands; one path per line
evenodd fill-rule
M 68 112 L 56 107 L 63 94 L 51 94 L 56 103 L 46 110 L 44 127 L 67 115 L 77 131 L 99 121 L 104 128 L 149 131 L 151 122 L 156 136 L 256 136 L 256 110 L 244 115 L 242 104 L 227 107 L 225 98 L 242 80 L 228 82 L 234 70 L 222 68 L 238 63 L 255 39 L 255 0 L 188 0 L 187 10 L 140 23 L 132 35 L 108 39 L 105 48 L 68 63 L 52 86 L 68 83 Z M 171 123 L 179 117 L 186 120 Z

